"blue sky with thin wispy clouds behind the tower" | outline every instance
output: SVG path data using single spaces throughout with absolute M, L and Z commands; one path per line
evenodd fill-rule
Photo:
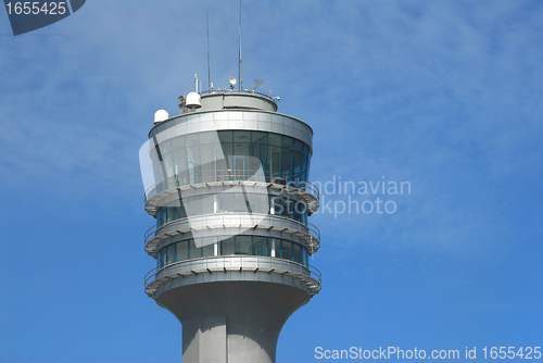
M 87 1 L 17 37 L 0 11 L 0 361 L 180 361 L 179 323 L 143 293 L 138 150 L 207 83 L 207 10 L 225 88 L 237 1 Z M 247 87 L 315 132 L 314 182 L 412 187 L 351 196 L 392 214 L 310 218 L 323 290 L 277 361 L 543 346 L 543 3 L 243 1 L 242 27 Z

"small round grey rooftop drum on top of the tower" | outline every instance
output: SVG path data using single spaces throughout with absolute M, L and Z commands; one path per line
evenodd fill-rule
M 194 103 L 195 96 L 200 96 Z M 254 90 L 219 89 L 204 92 L 190 92 L 187 97 L 180 96 L 179 114 L 222 111 L 222 110 L 257 110 L 277 112 L 278 97 L 272 98 Z

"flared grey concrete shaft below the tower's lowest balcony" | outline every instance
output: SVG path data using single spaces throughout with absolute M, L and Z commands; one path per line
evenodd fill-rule
M 282 284 L 232 280 L 162 293 L 156 302 L 182 324 L 184 362 L 275 362 L 289 316 L 310 300 Z

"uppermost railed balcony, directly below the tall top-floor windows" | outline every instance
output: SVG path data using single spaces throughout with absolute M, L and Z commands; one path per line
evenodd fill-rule
M 215 170 L 215 171 L 204 171 L 204 172 L 184 172 L 174 175 L 165 180 L 156 183 L 149 187 L 144 192 L 146 206 L 150 203 L 153 197 L 156 197 L 163 191 L 178 188 L 181 186 L 188 186 L 193 184 L 202 183 L 214 183 L 214 182 L 261 182 L 261 183 L 272 183 L 274 185 L 285 187 L 285 189 L 292 193 L 300 195 L 300 190 L 305 193 L 311 195 L 317 201 L 319 200 L 319 190 L 311 182 L 301 180 L 298 175 L 291 174 L 280 174 L 264 172 L 262 170 Z M 152 206 L 152 205 L 149 205 Z

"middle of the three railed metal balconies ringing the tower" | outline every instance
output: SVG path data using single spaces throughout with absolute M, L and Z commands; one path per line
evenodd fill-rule
M 251 221 L 254 217 L 258 218 L 258 221 L 261 222 L 264 222 L 266 220 L 269 222 L 268 224 L 263 224 L 263 223 L 247 224 L 248 218 L 249 221 Z M 278 220 L 279 223 L 274 224 L 273 220 Z M 266 229 L 270 229 L 272 227 L 290 233 L 298 231 L 302 233 L 301 237 L 307 241 L 307 245 L 311 249 L 311 254 L 313 254 L 316 250 L 320 248 L 320 230 L 315 225 L 308 222 L 303 224 L 295 220 L 275 214 L 231 212 L 231 213 L 200 214 L 195 216 L 179 218 L 163 224 L 159 228 L 156 227 L 156 225 L 154 225 L 146 231 L 146 237 L 144 237 L 146 250 L 152 250 L 149 245 L 154 238 L 172 231 L 180 233 L 181 230 L 185 229 L 191 229 L 191 224 L 193 225 L 200 224 L 209 228 L 211 228 L 214 225 L 218 225 L 220 227 L 236 226 L 245 228 L 255 228 L 257 226 L 262 226 L 262 228 Z

